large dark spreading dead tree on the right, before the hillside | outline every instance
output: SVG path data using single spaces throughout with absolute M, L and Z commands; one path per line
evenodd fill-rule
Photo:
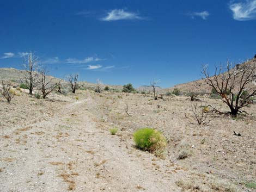
M 236 117 L 237 113 L 241 112 L 240 109 L 247 106 L 250 98 L 256 95 L 256 86 L 249 86 L 255 82 L 255 70 L 255 65 L 245 63 L 232 67 L 228 61 L 224 70 L 221 65 L 215 67 L 212 77 L 209 75 L 207 65 L 203 67 L 202 73 L 206 84 L 216 90 L 229 107 L 229 114 Z

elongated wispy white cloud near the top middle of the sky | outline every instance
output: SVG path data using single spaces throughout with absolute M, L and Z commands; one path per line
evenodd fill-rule
M 125 11 L 124 9 L 113 9 L 107 13 L 106 17 L 101 18 L 102 21 L 117 21 L 117 20 L 139 20 L 138 14 Z

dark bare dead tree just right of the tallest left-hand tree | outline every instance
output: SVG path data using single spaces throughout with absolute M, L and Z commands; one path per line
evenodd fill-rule
M 60 81 L 58 83 L 53 83 L 53 78 L 47 77 L 48 71 L 46 69 L 41 69 L 39 72 L 39 90 L 42 92 L 42 98 L 46 98 L 52 91 L 59 87 Z

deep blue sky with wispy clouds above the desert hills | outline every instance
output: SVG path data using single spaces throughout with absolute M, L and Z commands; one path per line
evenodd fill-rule
M 34 52 L 53 76 L 105 84 L 169 87 L 256 54 L 256 0 L 10 0 L 0 23 L 0 67 Z

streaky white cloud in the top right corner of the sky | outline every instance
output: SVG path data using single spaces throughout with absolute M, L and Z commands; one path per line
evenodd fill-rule
M 256 0 L 245 0 L 229 5 L 233 18 L 237 21 L 256 20 Z

